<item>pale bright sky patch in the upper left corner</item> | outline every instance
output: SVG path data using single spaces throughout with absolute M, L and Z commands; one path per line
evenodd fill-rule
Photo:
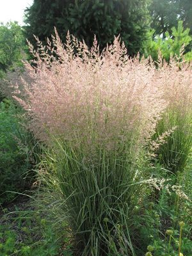
M 24 10 L 31 4 L 33 0 L 0 0 L 0 22 L 16 20 L 20 26 L 24 25 Z

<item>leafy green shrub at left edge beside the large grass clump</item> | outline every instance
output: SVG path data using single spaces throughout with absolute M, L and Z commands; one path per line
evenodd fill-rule
M 10 100 L 0 103 L 0 203 L 15 195 L 6 191 L 22 191 L 24 179 L 35 163 L 35 140 L 24 126 L 24 113 Z

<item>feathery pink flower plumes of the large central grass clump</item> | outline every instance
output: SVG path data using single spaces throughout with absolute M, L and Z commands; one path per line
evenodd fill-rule
M 57 34 L 52 40 L 53 47 L 49 40 L 47 47 L 38 42 L 38 51 L 31 46 L 35 65 L 25 63 L 30 79 L 22 89 L 15 85 L 31 130 L 40 140 L 50 141 L 51 134 L 84 150 L 127 145 L 138 152 L 136 141 L 151 137 L 166 104 L 156 68 L 129 59 L 118 38 L 101 54 L 96 39 L 90 51 L 70 35 L 65 48 Z

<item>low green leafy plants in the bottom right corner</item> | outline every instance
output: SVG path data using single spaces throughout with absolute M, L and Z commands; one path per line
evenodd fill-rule
M 166 189 L 165 189 L 166 190 Z M 166 194 L 164 194 L 166 193 Z M 146 243 L 150 246 L 146 246 L 149 253 L 154 256 L 178 256 L 191 255 L 192 237 L 191 237 L 191 223 L 189 218 L 186 218 L 188 225 L 184 225 L 184 221 L 179 221 L 184 217 L 183 213 L 186 211 L 188 200 L 180 199 L 179 209 L 176 211 L 176 205 L 170 202 L 176 202 L 177 195 L 168 192 L 161 192 L 157 202 L 152 204 L 152 207 L 145 205 L 145 216 L 143 217 L 143 223 L 140 234 L 143 246 Z M 147 203 L 148 204 L 148 203 Z M 191 204 L 191 203 L 189 203 Z M 155 218 L 158 218 L 159 222 L 156 224 Z M 189 215 L 188 215 L 189 216 Z M 141 221 L 141 217 L 139 217 Z M 179 225 L 178 225 L 179 223 Z M 143 248 L 141 249 L 141 252 Z M 138 252 L 140 255 L 140 252 Z

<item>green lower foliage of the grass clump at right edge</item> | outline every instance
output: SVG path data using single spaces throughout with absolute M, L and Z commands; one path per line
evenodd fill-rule
M 171 132 L 157 149 L 157 161 L 172 173 L 183 172 L 188 163 L 192 145 L 191 111 L 182 113 L 179 109 L 168 109 L 157 125 L 156 137 Z

